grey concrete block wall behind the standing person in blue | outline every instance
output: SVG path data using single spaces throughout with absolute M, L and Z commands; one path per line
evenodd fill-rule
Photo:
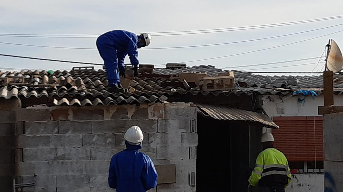
M 191 104 L 29 108 L 16 111 L 17 182 L 24 191 L 115 191 L 108 187 L 111 157 L 123 135 L 142 128 L 140 151 L 158 164 L 176 164 L 176 183 L 149 192 L 195 191 L 197 112 Z

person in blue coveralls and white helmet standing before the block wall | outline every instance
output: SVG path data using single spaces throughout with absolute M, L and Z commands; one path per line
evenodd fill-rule
M 157 185 L 154 163 L 142 148 L 143 133 L 132 126 L 124 135 L 126 149 L 113 155 L 108 173 L 108 185 L 117 192 L 146 192 Z

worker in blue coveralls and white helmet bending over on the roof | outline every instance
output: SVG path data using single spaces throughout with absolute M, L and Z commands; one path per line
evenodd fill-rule
M 109 92 L 124 92 L 120 85 L 119 74 L 125 77 L 125 56 L 129 55 L 134 66 L 134 76 L 137 76 L 139 64 L 137 49 L 150 43 L 151 36 L 148 33 L 137 36 L 124 30 L 108 31 L 98 37 L 96 46 L 106 67 Z

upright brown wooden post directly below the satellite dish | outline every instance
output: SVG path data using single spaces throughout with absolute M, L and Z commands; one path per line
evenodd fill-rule
M 324 106 L 333 105 L 333 72 L 324 71 Z

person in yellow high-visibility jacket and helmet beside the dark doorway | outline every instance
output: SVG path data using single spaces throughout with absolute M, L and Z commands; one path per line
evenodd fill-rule
M 257 156 L 248 191 L 284 192 L 292 180 L 288 161 L 282 152 L 273 147 L 274 137 L 271 133 L 262 134 L 261 144 L 263 151 Z

